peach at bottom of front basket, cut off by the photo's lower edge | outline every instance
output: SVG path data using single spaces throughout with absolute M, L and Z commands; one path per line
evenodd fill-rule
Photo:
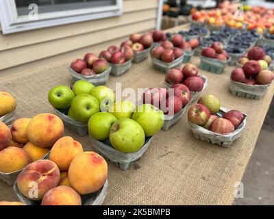
M 60 185 L 45 194 L 41 205 L 82 205 L 82 199 L 73 188 Z

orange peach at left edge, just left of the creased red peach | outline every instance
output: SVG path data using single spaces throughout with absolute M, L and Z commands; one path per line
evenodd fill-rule
M 31 162 L 27 152 L 16 147 L 0 151 L 0 172 L 10 173 L 23 169 Z

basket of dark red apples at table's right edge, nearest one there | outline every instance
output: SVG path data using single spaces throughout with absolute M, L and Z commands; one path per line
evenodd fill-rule
M 271 70 L 262 70 L 258 61 L 250 60 L 242 68 L 235 68 L 230 79 L 232 94 L 249 99 L 260 99 L 271 86 L 274 73 Z

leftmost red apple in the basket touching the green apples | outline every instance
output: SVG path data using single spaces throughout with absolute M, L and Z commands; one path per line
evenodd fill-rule
M 142 94 L 142 101 L 160 108 L 161 105 L 166 104 L 168 94 L 165 88 L 150 88 Z

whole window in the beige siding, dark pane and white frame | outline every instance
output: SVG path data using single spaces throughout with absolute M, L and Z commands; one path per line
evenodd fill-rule
M 3 34 L 121 16 L 122 0 L 1 0 Z

